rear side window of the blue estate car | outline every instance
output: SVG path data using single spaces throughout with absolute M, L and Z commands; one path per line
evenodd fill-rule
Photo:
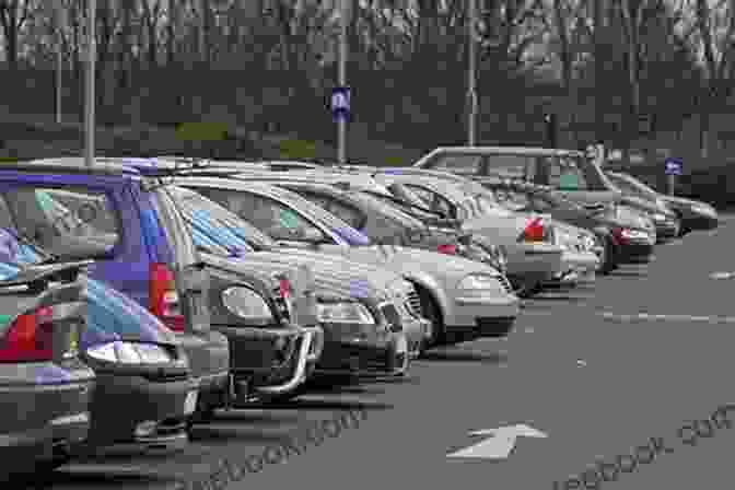
M 20 186 L 2 197 L 18 233 L 55 255 L 92 257 L 120 240 L 120 220 L 104 191 Z

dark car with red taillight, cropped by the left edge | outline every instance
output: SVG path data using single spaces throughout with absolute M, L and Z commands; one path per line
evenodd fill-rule
M 19 268 L 0 232 L 0 479 L 36 477 L 86 440 L 95 374 L 80 359 L 85 331 L 80 264 Z M 14 241 L 12 241 L 14 242 Z

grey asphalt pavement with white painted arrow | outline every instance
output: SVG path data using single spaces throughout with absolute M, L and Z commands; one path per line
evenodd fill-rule
M 222 413 L 182 452 L 75 463 L 45 488 L 725 488 L 735 279 L 711 275 L 735 271 L 731 219 L 526 301 L 508 339 L 438 350 L 404 380 Z

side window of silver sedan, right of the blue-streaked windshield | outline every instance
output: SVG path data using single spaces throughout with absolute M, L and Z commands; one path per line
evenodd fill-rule
M 247 191 L 197 188 L 197 191 L 223 206 L 243 220 L 270 236 L 283 232 L 298 232 L 305 236 L 323 236 L 324 233 L 296 211 L 267 196 Z M 326 240 L 326 237 L 324 237 Z

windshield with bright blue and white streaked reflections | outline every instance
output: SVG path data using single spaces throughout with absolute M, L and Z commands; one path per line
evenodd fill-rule
M 200 194 L 172 186 L 171 196 L 191 226 L 194 243 L 200 249 L 232 256 L 276 247 L 275 242 L 255 226 Z

